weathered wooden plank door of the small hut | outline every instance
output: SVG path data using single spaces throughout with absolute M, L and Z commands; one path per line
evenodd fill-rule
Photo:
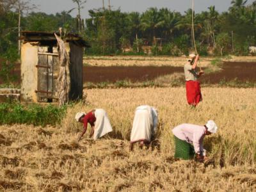
M 36 65 L 38 102 L 58 102 L 59 63 L 58 54 L 38 52 L 38 65 Z

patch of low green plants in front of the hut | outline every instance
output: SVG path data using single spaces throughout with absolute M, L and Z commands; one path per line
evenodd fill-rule
M 19 103 L 0 104 L 0 124 L 56 125 L 66 114 L 67 106 L 43 107 L 38 104 L 22 105 Z

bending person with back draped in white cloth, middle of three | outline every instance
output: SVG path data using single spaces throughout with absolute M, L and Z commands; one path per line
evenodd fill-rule
M 136 142 L 140 142 L 140 147 L 150 143 L 154 134 L 156 134 L 157 123 L 156 108 L 150 106 L 136 108 L 132 124 L 130 149 L 133 149 L 133 144 Z

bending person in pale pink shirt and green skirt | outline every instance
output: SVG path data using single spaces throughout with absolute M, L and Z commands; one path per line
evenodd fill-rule
M 175 159 L 206 160 L 206 150 L 203 147 L 205 135 L 216 133 L 218 127 L 213 120 L 209 120 L 204 126 L 193 124 L 181 124 L 172 130 L 175 140 Z

